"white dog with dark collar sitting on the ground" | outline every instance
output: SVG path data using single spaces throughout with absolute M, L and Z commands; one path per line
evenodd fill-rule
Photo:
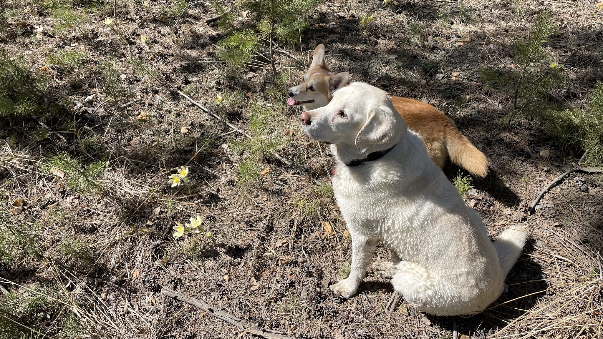
M 352 83 L 327 106 L 302 113 L 301 123 L 312 139 L 332 144 L 333 192 L 352 235 L 350 276 L 333 292 L 356 293 L 383 241 L 394 262 L 373 268 L 392 276 L 394 290 L 421 311 L 472 314 L 500 296 L 525 228 L 507 229 L 493 244 L 387 93 Z

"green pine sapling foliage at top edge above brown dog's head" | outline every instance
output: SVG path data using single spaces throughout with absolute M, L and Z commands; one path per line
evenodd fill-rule
M 322 2 L 242 0 L 233 8 L 215 2 L 214 7 L 220 14 L 218 27 L 228 32 L 228 36 L 218 43 L 221 48 L 219 58 L 232 66 L 250 65 L 254 57 L 265 54 L 267 50 L 271 53 L 273 42 L 285 45 L 299 43 L 308 28 L 306 16 Z M 242 17 L 235 13 L 241 13 Z

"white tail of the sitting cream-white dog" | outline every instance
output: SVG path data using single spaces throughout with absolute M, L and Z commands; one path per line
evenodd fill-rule
M 528 230 L 517 225 L 504 230 L 500 233 L 498 240 L 494 242 L 502 276 L 507 277 L 511 267 L 519 258 L 519 253 L 522 252 L 526 238 L 528 238 Z

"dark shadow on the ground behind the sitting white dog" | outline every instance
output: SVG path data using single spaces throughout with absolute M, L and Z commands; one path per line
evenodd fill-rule
M 444 317 L 426 314 L 431 323 L 450 331 L 454 329 L 471 338 L 484 338 L 502 329 L 532 308 L 538 297 L 546 294 L 549 282 L 543 275 L 542 267 L 532 261 L 528 254 L 534 251 L 534 239 L 529 239 L 522 255 L 509 272 L 505 281 L 506 292 L 484 311 L 470 316 Z

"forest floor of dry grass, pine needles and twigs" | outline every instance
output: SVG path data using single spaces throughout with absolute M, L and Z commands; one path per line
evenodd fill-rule
M 220 62 L 223 33 L 204 23 L 212 4 L 176 22 L 183 4 L 0 5 L 0 47 L 68 112 L 0 129 L 0 338 L 252 337 L 163 287 L 294 338 L 451 338 L 453 327 L 462 339 L 603 338 L 603 175 L 570 174 L 529 214 L 582 154 L 537 120 L 505 122 L 512 98 L 480 75 L 515 67 L 511 41 L 546 7 L 558 27 L 546 52 L 566 72 L 550 100 L 586 107 L 603 70 L 603 4 L 324 2 L 301 45 L 276 52 L 277 83 L 261 60 L 237 71 Z M 363 13 L 374 16 L 365 29 Z M 515 223 L 530 236 L 485 311 L 453 321 L 402 300 L 391 312 L 391 283 L 373 271 L 349 300 L 329 292 L 351 259 L 333 160 L 286 106 L 320 43 L 333 71 L 434 105 L 488 157 L 490 175 L 472 179 L 466 203 L 493 239 Z M 180 166 L 189 183 L 172 188 Z M 468 175 L 450 164 L 444 173 L 455 183 Z M 197 215 L 210 238 L 172 236 Z M 379 247 L 376 258 L 390 253 Z

